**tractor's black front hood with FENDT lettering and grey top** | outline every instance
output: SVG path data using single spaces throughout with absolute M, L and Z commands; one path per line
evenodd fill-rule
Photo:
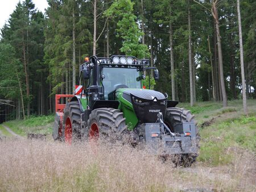
M 167 94 L 148 89 L 118 89 L 122 98 L 133 105 L 134 112 L 141 123 L 155 123 L 158 112 L 166 114 Z

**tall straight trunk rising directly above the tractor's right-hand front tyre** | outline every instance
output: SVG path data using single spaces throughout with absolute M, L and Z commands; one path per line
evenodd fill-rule
M 190 85 L 190 105 L 194 105 L 193 98 L 193 69 L 192 69 L 192 51 L 191 51 L 191 19 L 190 8 L 188 8 L 188 63 L 189 63 L 189 85 Z

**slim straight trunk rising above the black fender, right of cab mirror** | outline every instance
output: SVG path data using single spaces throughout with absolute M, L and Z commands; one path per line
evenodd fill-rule
M 172 37 L 172 23 L 170 20 L 170 57 L 171 57 L 171 82 L 172 82 L 172 101 L 175 101 L 175 77 L 174 77 L 174 48 L 173 48 L 173 37 Z

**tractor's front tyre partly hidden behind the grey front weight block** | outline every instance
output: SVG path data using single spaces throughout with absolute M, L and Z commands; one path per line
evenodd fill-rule
M 166 116 L 164 118 L 164 123 L 167 124 L 167 126 L 171 129 L 172 132 L 175 132 L 178 130 L 178 126 L 181 122 L 193 122 L 196 126 L 195 116 L 191 114 L 191 111 L 185 110 L 184 108 L 178 108 L 178 107 L 170 107 L 166 110 Z M 199 141 L 200 141 L 200 135 L 199 131 L 196 127 L 196 146 L 199 149 Z M 198 156 L 198 153 L 190 153 L 190 154 L 184 154 L 181 155 L 180 158 L 180 165 L 183 166 L 191 166 L 193 162 L 196 161 L 196 157 Z

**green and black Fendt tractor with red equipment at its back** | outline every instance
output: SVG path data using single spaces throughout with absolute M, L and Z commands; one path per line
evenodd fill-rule
M 82 86 L 75 95 L 56 95 L 53 139 L 72 144 L 76 140 L 108 137 L 130 138 L 156 155 L 178 155 L 187 165 L 199 151 L 199 131 L 194 116 L 166 93 L 145 89 L 145 71 L 159 72 L 146 59 L 133 56 L 91 56 L 80 66 Z M 149 73 L 149 72 L 148 72 Z M 150 78 L 149 78 L 150 86 Z M 60 104 L 61 97 L 71 97 Z M 128 140 L 126 140 L 128 141 Z

